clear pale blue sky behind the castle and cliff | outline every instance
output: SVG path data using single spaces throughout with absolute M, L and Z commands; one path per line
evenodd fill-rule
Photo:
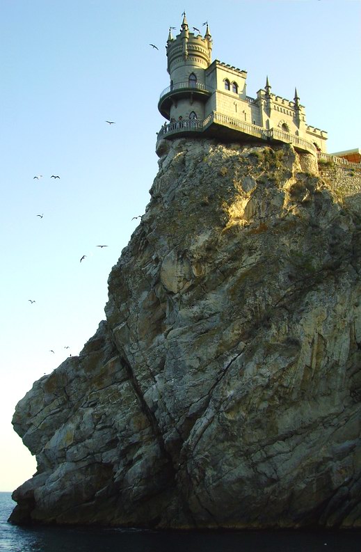
M 15 404 L 95 333 L 111 267 L 149 201 L 169 26 L 178 32 L 184 9 L 190 27 L 207 20 L 213 58 L 248 71 L 252 97 L 267 74 L 289 100 L 296 86 L 307 123 L 328 131 L 335 152 L 361 145 L 360 8 L 0 0 L 1 491 L 35 471 L 10 423 Z

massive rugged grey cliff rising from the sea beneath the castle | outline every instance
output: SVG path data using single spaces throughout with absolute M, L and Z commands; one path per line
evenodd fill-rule
M 11 521 L 360 527 L 361 187 L 288 145 L 159 155 L 106 321 L 17 404 Z

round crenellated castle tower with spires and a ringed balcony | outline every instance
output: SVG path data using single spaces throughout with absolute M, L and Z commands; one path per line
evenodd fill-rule
M 205 85 L 205 70 L 211 64 L 212 40 L 209 26 L 204 37 L 199 29 L 189 31 L 186 14 L 176 38 L 167 40 L 167 70 L 170 86 L 163 90 L 158 109 L 168 120 L 204 119 L 204 103 L 211 95 Z

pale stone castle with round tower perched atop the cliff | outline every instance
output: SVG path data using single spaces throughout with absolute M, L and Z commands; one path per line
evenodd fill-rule
M 170 86 L 161 93 L 158 109 L 169 123 L 158 140 L 198 134 L 225 141 L 291 143 L 314 155 L 326 152 L 327 132 L 307 125 L 296 89 L 294 100 L 286 100 L 271 92 L 267 77 L 257 97 L 249 97 L 246 71 L 211 61 L 208 23 L 203 37 L 189 31 L 183 15 L 179 34 L 173 38 L 170 30 L 167 40 Z

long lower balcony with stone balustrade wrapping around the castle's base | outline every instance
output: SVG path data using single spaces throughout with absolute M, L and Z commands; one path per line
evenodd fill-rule
M 157 145 L 161 139 L 172 139 L 185 136 L 204 136 L 219 138 L 225 141 L 245 141 L 268 143 L 290 143 L 296 150 L 316 155 L 314 144 L 280 129 L 264 129 L 246 121 L 212 111 L 204 120 L 182 120 L 161 127 L 158 132 Z

